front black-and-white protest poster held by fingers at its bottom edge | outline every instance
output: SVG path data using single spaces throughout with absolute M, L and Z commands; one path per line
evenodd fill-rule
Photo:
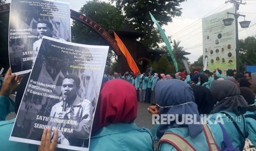
M 108 48 L 44 36 L 10 140 L 40 144 L 51 127 L 57 147 L 88 150 Z

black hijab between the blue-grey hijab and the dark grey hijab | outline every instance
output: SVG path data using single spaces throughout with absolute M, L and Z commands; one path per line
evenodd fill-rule
M 211 95 L 210 90 L 201 85 L 192 85 L 191 87 L 194 91 L 199 114 L 210 114 L 214 107 L 213 95 Z

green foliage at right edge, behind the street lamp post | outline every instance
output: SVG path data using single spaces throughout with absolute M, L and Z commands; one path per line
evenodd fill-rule
M 256 65 L 256 36 L 239 40 L 239 48 L 240 65 Z

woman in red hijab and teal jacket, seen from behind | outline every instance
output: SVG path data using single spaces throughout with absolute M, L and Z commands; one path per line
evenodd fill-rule
M 97 102 L 90 150 L 153 150 L 150 130 L 134 123 L 137 109 L 133 85 L 121 79 L 106 82 Z

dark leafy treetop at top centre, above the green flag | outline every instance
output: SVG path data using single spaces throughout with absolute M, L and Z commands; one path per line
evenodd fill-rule
M 133 29 L 143 31 L 146 36 L 141 42 L 148 48 L 159 48 L 157 43 L 162 42 L 160 34 L 152 22 L 149 11 L 154 15 L 160 26 L 167 25 L 175 16 L 181 16 L 179 3 L 186 0 L 111 0 L 116 2 L 116 7 L 123 11 L 126 19 Z

